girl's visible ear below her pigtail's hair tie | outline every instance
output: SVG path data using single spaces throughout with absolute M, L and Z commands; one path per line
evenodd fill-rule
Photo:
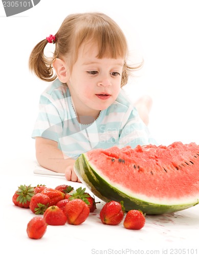
M 69 68 L 63 60 L 56 58 L 53 61 L 53 68 L 55 69 L 59 81 L 63 83 L 68 82 L 70 76 Z

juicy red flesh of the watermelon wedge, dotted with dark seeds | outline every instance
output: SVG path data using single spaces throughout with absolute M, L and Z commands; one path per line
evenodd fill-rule
M 136 194 L 154 197 L 156 201 L 157 196 L 161 200 L 176 200 L 199 195 L 199 146 L 195 144 L 99 151 L 87 153 L 91 165 L 97 165 L 111 182 L 125 184 L 125 188 Z

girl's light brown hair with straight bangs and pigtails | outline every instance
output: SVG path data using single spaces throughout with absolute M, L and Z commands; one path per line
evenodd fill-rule
M 83 42 L 94 41 L 98 45 L 96 57 L 124 58 L 121 87 L 127 83 L 129 72 L 139 69 L 126 63 L 128 47 L 126 38 L 113 19 L 103 13 L 78 13 L 67 16 L 55 34 L 55 52 L 52 58 L 44 54 L 48 40 L 40 41 L 32 50 L 29 68 L 37 77 L 45 81 L 56 79 L 52 63 L 54 59 L 67 57 L 72 68 L 77 60 L 79 47 Z

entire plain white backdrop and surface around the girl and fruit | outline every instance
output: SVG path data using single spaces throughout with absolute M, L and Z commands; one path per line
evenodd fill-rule
M 144 58 L 142 71 L 135 74 L 126 90 L 132 100 L 144 94 L 152 97 L 149 129 L 159 143 L 199 144 L 198 1 L 41 0 L 34 8 L 12 17 L 6 17 L 0 3 L 0 172 L 1 189 L 6 191 L 1 199 L 1 249 L 5 248 L 7 255 L 21 255 L 19 246 L 28 248 L 30 255 L 39 251 L 47 255 L 91 255 L 91 248 L 157 250 L 160 246 L 160 255 L 163 249 L 169 254 L 169 248 L 179 249 L 181 255 L 181 249 L 198 247 L 197 206 L 174 215 L 146 217 L 145 228 L 138 232 L 126 230 L 122 224 L 104 226 L 92 215 L 78 227 L 49 226 L 41 240 L 33 241 L 26 234 L 33 215 L 15 208 L 10 200 L 20 184 L 55 187 L 65 183 L 65 179 L 33 175 L 31 133 L 39 96 L 48 83 L 29 72 L 28 59 L 37 42 L 57 32 L 65 16 L 85 11 L 104 12 L 115 19 L 129 42 L 132 62 Z M 99 215 L 102 206 L 97 207 Z

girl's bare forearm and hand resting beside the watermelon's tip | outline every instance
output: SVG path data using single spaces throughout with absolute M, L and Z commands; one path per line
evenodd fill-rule
M 67 180 L 81 182 L 74 172 L 75 160 L 64 159 L 63 153 L 57 145 L 58 143 L 54 140 L 36 137 L 35 148 L 38 163 L 54 172 L 64 173 Z

